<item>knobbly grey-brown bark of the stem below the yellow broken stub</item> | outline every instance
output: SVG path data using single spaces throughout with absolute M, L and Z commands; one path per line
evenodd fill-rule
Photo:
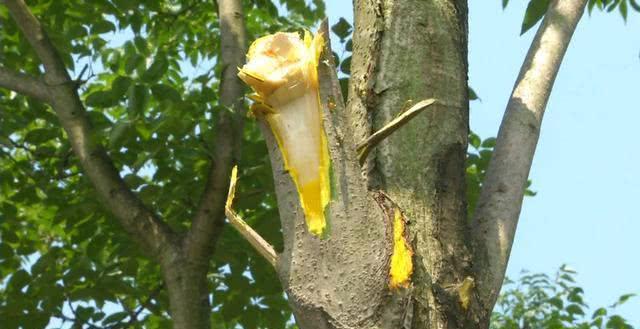
M 334 177 L 325 239 L 308 232 L 280 151 L 263 129 L 285 238 L 278 273 L 301 328 L 399 327 L 401 302 L 387 289 L 388 217 L 361 178 L 355 144 L 344 141 L 345 112 L 330 56 L 323 57 L 319 75 Z M 390 317 L 383 316 L 387 308 L 394 310 Z

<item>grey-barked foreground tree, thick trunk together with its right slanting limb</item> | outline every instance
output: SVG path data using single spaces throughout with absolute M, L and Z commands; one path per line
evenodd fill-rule
M 488 327 L 542 111 L 585 2 L 552 1 L 514 89 L 472 224 L 465 199 L 466 1 L 355 1 L 346 107 L 333 67 L 319 71 L 337 190 L 326 239 L 306 232 L 295 187 L 264 130 L 285 237 L 278 271 L 301 328 Z M 425 113 L 380 142 L 359 174 L 353 146 L 431 98 L 437 101 Z M 332 111 L 330 103 L 337 104 Z M 399 206 L 410 223 L 414 273 L 404 290 L 387 285 L 392 228 L 388 207 L 376 206 L 385 203 Z M 463 289 L 469 282 L 471 289 Z

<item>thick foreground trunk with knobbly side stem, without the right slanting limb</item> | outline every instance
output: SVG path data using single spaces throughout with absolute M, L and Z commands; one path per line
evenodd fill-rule
M 307 232 L 295 186 L 263 130 L 285 239 L 278 273 L 298 326 L 487 327 L 489 315 L 465 290 L 474 280 L 465 201 L 467 3 L 362 0 L 355 14 L 346 107 L 330 58 L 319 67 L 334 177 L 324 239 Z M 382 141 L 361 167 L 356 145 L 427 98 L 436 105 Z M 396 207 L 414 250 L 406 288 L 389 284 Z

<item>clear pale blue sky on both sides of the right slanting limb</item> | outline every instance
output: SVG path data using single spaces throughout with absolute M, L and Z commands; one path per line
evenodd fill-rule
M 469 1 L 471 127 L 495 136 L 535 31 L 520 36 L 528 1 Z M 327 1 L 330 21 L 352 19 L 351 1 Z M 599 307 L 640 292 L 640 14 L 585 15 L 551 95 L 507 274 L 578 271 Z M 618 309 L 640 327 L 640 299 Z

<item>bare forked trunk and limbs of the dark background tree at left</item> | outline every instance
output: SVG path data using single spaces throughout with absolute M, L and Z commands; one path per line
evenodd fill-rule
M 105 207 L 119 219 L 143 251 L 160 263 L 174 328 L 210 328 L 207 272 L 224 223 L 228 177 L 232 162 L 238 157 L 242 136 L 244 87 L 235 76 L 236 67 L 241 65 L 246 52 L 241 2 L 218 1 L 222 36 L 220 58 L 225 66 L 220 103 L 235 114 L 226 110 L 219 113 L 212 171 L 192 228 L 184 236 L 173 232 L 122 180 L 118 169 L 93 136 L 77 83 L 71 80 L 60 54 L 24 1 L 2 2 L 34 48 L 45 74 L 39 79 L 0 67 L 0 87 L 45 101 L 54 109 L 84 173 Z

